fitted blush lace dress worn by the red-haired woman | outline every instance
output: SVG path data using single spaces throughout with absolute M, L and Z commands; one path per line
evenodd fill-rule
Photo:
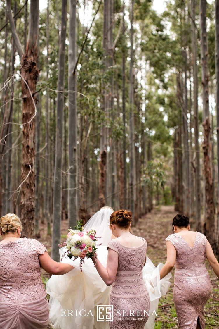
M 145 311 L 149 313 L 150 299 L 142 275 L 147 243 L 142 240 L 143 244 L 137 248 L 125 247 L 117 239 L 108 244 L 108 248 L 119 254 L 118 270 L 110 292 L 111 329 L 141 329 L 147 322 Z

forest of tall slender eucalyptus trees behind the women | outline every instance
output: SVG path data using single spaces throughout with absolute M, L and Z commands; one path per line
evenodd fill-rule
M 0 1 L 0 215 L 54 259 L 62 219 L 161 204 L 219 258 L 219 0 L 156 3 Z

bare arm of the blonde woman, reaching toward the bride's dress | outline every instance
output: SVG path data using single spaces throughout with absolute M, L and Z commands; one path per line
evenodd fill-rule
M 40 266 L 50 274 L 62 275 L 70 272 L 74 268 L 74 266 L 69 264 L 55 262 L 46 251 L 44 254 L 39 255 L 38 259 Z

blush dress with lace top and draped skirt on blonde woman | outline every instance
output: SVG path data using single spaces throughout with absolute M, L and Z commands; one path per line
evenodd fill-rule
M 35 239 L 0 243 L 0 328 L 46 329 L 49 304 L 38 255 L 46 251 Z

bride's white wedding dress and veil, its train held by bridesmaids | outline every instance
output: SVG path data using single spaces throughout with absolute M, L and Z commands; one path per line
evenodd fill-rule
M 112 237 L 109 219 L 112 214 L 109 208 L 100 209 L 84 225 L 85 230 L 95 229 L 98 240 L 98 259 L 106 267 L 107 245 Z M 60 258 L 66 247 L 60 249 Z M 64 275 L 52 275 L 47 281 L 46 291 L 50 295 L 50 321 L 55 329 L 108 329 L 108 322 L 97 321 L 97 305 L 108 305 L 110 287 L 100 278 L 91 259 L 85 258 L 80 271 L 80 258 L 76 260 L 64 257 L 62 263 L 68 263 L 75 268 Z M 156 268 L 147 257 L 143 267 L 143 278 L 150 296 L 150 310 L 157 312 L 161 295 L 165 295 L 170 283 L 171 274 L 160 280 L 160 270 L 163 264 Z M 76 311 L 78 310 L 78 311 Z M 79 314 L 80 310 L 81 311 Z M 152 313 L 151 312 L 151 313 Z M 154 316 L 150 316 L 145 329 L 154 328 Z

